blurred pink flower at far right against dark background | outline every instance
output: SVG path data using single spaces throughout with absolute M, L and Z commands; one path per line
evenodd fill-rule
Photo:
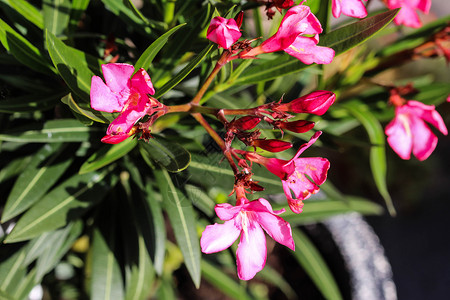
M 447 127 L 434 105 L 410 100 L 395 108 L 395 118 L 385 132 L 389 145 L 402 159 L 410 159 L 412 152 L 422 161 L 436 148 L 438 138 L 425 122 L 447 135 Z

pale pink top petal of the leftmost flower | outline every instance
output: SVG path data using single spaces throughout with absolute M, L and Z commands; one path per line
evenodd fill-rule
M 121 93 L 130 89 L 129 80 L 133 75 L 134 67 L 129 64 L 105 64 L 102 65 L 103 77 L 106 85 L 114 93 Z

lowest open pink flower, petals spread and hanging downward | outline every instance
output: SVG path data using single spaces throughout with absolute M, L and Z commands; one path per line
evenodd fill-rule
M 278 216 L 284 209 L 273 211 L 266 199 L 259 198 L 249 202 L 241 198 L 236 206 L 228 203 L 217 204 L 215 211 L 225 223 L 206 226 L 200 239 L 202 252 L 209 254 L 225 250 L 240 235 L 236 257 L 241 280 L 252 279 L 266 264 L 264 231 L 278 243 L 295 250 L 291 226 Z

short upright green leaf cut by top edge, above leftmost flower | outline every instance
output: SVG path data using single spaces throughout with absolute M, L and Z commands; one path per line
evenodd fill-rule
M 60 35 L 67 28 L 70 18 L 70 0 L 44 0 L 44 26 L 54 35 Z

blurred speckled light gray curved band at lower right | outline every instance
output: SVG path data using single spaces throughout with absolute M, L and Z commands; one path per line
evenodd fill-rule
M 358 213 L 323 222 L 345 260 L 353 300 L 397 300 L 392 270 L 378 236 Z

